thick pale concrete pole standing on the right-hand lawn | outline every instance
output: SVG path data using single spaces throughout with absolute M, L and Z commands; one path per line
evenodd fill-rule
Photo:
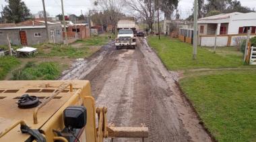
M 194 33 L 193 33 L 193 60 L 197 59 L 197 11 L 198 1 L 194 2 Z

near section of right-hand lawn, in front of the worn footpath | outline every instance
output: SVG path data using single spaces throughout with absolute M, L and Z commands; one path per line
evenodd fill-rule
M 255 141 L 256 72 L 225 71 L 181 80 L 181 87 L 218 141 Z

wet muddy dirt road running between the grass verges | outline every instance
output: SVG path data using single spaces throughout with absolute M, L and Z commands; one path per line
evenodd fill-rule
M 108 123 L 145 123 L 146 141 L 211 141 L 175 84 L 177 74 L 164 68 L 145 39 L 137 44 L 135 50 L 115 50 L 110 42 L 89 60 L 77 61 L 61 79 L 90 80 L 97 106 L 108 108 Z

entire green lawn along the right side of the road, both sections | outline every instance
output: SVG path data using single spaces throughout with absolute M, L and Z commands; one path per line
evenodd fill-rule
M 180 85 L 205 127 L 217 141 L 255 141 L 256 68 L 243 65 L 233 47 L 198 47 L 176 39 L 148 38 L 168 70 L 183 72 Z

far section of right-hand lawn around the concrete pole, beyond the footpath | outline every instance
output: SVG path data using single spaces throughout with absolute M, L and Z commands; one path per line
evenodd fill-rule
M 197 48 L 197 60 L 192 60 L 193 48 L 191 44 L 165 36 L 162 36 L 160 41 L 157 37 L 151 36 L 148 42 L 156 50 L 168 70 L 243 66 L 242 54 L 229 54 L 228 52 L 222 52 L 221 48 L 218 49 L 216 54 L 210 52 L 207 48 Z

